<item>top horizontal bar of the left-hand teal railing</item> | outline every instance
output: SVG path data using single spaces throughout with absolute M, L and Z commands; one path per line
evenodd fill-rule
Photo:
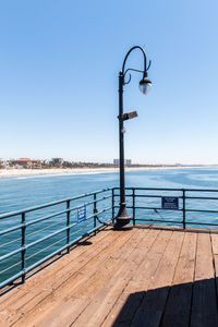
M 62 204 L 62 203 L 64 203 L 66 201 L 71 202 L 71 201 L 80 199 L 80 198 L 83 198 L 83 197 L 86 197 L 86 196 L 92 196 L 94 194 L 99 194 L 99 193 L 108 192 L 108 191 L 111 191 L 111 190 L 112 190 L 111 187 L 102 189 L 102 190 L 99 190 L 99 191 L 96 191 L 96 192 L 81 194 L 81 195 L 77 195 L 75 197 L 68 197 L 68 198 L 63 198 L 63 199 L 60 199 L 60 201 L 50 202 L 50 203 L 47 203 L 47 204 L 44 204 L 44 205 L 40 205 L 40 206 L 29 207 L 29 208 L 26 208 L 25 210 L 11 211 L 11 213 L 8 213 L 8 214 L 0 215 L 0 219 L 4 219 L 4 218 L 9 218 L 9 217 L 22 215 L 24 213 L 26 214 L 26 213 L 29 213 L 29 211 L 35 211 L 35 210 L 44 209 L 44 208 L 47 208 L 47 207 L 50 207 L 50 206 Z

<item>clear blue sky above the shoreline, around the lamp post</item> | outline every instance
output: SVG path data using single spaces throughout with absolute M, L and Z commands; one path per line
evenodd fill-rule
M 153 89 L 137 74 L 125 86 L 126 158 L 218 164 L 217 13 L 217 0 L 0 1 L 0 157 L 117 158 L 118 74 L 141 45 Z

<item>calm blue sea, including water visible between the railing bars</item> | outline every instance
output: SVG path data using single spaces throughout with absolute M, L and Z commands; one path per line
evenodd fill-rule
M 49 202 L 59 201 L 62 198 L 77 196 L 80 194 L 94 192 L 97 190 L 119 186 L 119 173 L 95 173 L 95 174 L 63 174 L 63 175 L 37 175 L 37 177 L 13 177 L 0 179 L 0 215 L 14 210 L 25 209 L 27 207 L 39 206 Z M 218 190 L 218 169 L 169 169 L 169 170 L 145 170 L 145 171 L 129 171 L 126 172 L 126 186 L 135 187 L 174 187 L 174 189 L 217 189 Z M 174 194 L 161 194 L 171 196 L 181 196 L 181 192 Z M 196 194 L 192 194 L 192 196 Z M 198 196 L 201 195 L 197 194 Z M 207 196 L 216 196 L 214 193 L 208 193 Z M 93 197 L 90 198 L 90 201 Z M 108 203 L 98 203 L 98 210 L 101 210 L 107 205 L 111 206 L 111 199 Z M 119 201 L 119 198 L 118 198 Z M 128 198 L 131 205 L 132 198 Z M 74 205 L 83 205 L 85 199 Z M 141 203 L 136 205 L 149 206 L 159 208 L 160 198 L 141 198 Z M 179 202 L 182 208 L 182 198 Z M 218 210 L 218 201 L 213 199 L 194 199 L 192 203 L 186 201 L 186 208 L 197 207 L 197 209 Z M 46 215 L 52 215 L 53 210 L 65 210 L 65 203 L 53 208 L 49 207 L 44 211 L 37 210 L 26 215 L 26 222 L 32 222 L 34 219 L 44 218 Z M 129 210 L 132 215 L 131 209 Z M 57 211 L 56 211 L 57 213 Z M 71 223 L 76 223 L 76 211 L 71 213 Z M 93 215 L 93 206 L 87 208 L 87 216 Z M 148 217 L 152 219 L 166 219 L 182 221 L 182 210 L 161 211 L 161 217 L 154 209 L 136 210 L 138 218 Z M 100 218 L 109 219 L 111 210 L 105 213 Z M 218 223 L 218 214 L 216 213 L 187 213 L 186 221 L 192 226 L 193 221 Z M 0 220 L 0 231 L 10 229 L 21 225 L 21 215 L 12 218 Z M 26 228 L 25 243 L 33 244 L 41 238 L 46 238 L 60 229 L 64 229 L 66 225 L 66 214 L 59 215 L 52 219 L 37 222 Z M 93 219 L 80 223 L 71 230 L 71 241 L 84 234 L 84 232 L 93 228 Z M 12 251 L 20 249 L 22 242 L 21 229 L 0 235 L 0 256 L 8 255 Z M 66 232 L 56 234 L 43 243 L 37 243 L 26 250 L 26 267 L 32 267 L 43 257 L 58 251 L 60 246 L 66 243 Z M 7 280 L 14 274 L 21 270 L 21 253 L 13 255 L 0 262 L 0 282 Z

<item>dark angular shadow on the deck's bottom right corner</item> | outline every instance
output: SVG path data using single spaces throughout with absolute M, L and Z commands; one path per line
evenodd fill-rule
M 218 326 L 216 279 L 132 293 L 113 327 Z

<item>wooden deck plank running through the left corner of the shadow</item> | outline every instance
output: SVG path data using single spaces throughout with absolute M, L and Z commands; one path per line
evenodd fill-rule
M 123 289 L 117 303 L 105 319 L 102 326 L 129 326 L 140 303 L 147 290 L 149 280 L 154 278 L 159 261 L 172 235 L 172 231 L 161 231 L 155 240 L 153 246 L 145 255 L 144 261 L 138 266 L 126 287 Z

